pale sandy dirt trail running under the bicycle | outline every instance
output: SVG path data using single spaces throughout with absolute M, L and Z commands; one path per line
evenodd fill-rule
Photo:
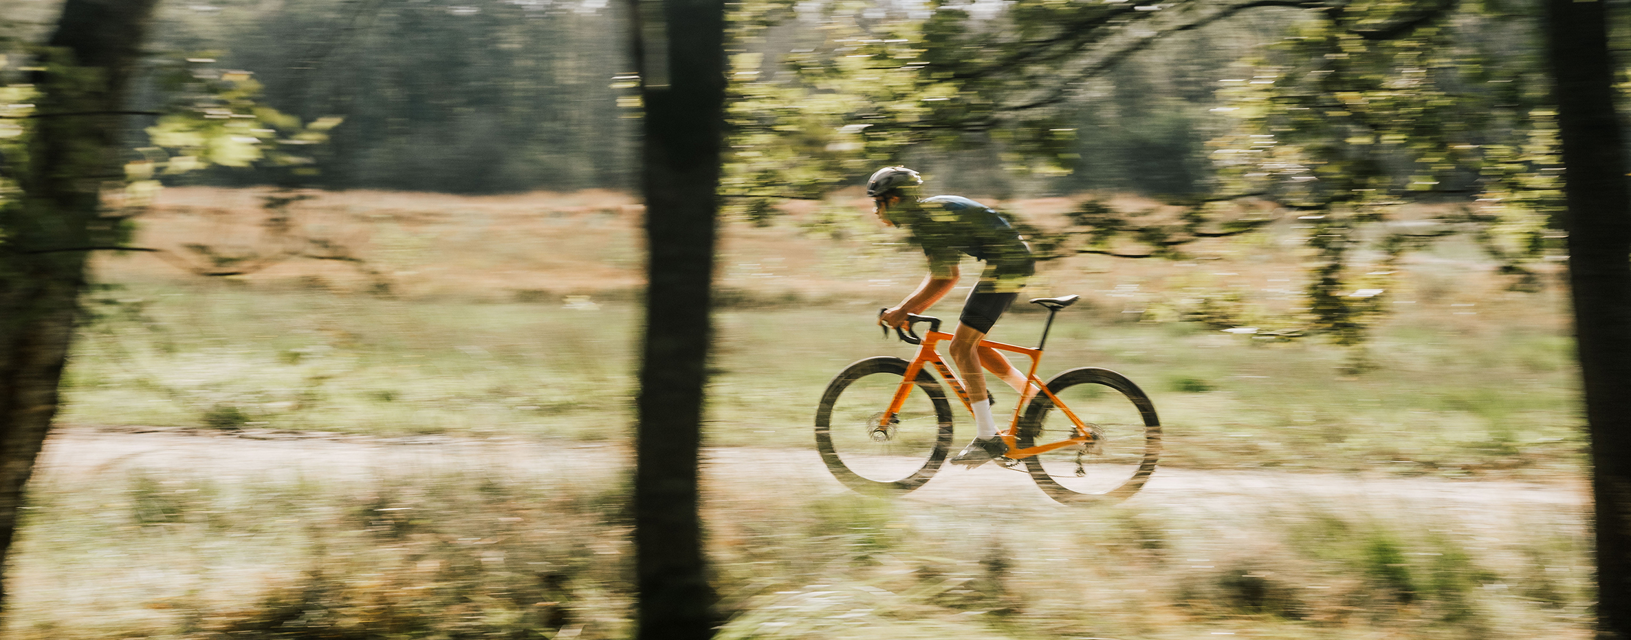
M 113 432 L 60 428 L 46 443 L 36 477 L 55 474 L 176 472 L 214 477 L 325 474 L 364 480 L 432 471 L 491 469 L 595 479 L 612 477 L 630 461 L 613 443 L 540 441 L 522 438 L 364 438 L 313 433 Z M 811 449 L 711 448 L 705 477 L 714 490 L 732 485 L 785 485 L 798 492 L 843 492 Z M 1031 479 L 987 464 L 966 471 L 948 466 L 905 500 L 925 503 L 992 502 L 1014 508 L 1055 508 Z M 1230 510 L 1274 503 L 1442 505 L 1465 513 L 1514 508 L 1585 508 L 1580 482 L 1448 480 L 1292 471 L 1156 469 L 1132 498 L 1192 510 Z

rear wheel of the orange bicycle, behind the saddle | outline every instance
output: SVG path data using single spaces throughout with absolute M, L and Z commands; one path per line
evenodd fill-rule
M 1161 420 L 1155 404 L 1130 379 L 1103 368 L 1076 368 L 1047 381 L 1093 435 L 1024 459 L 1031 479 L 1059 502 L 1124 500 L 1138 492 L 1161 456 Z M 1070 440 L 1075 422 L 1052 399 L 1037 394 L 1019 420 L 1021 448 Z

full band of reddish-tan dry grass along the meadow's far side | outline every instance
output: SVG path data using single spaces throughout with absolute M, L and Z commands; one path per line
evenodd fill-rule
M 161 192 L 139 218 L 135 244 L 166 249 L 186 264 L 207 261 L 188 246 L 227 256 L 274 256 L 281 249 L 344 254 L 359 262 L 292 257 L 241 275 L 246 282 L 295 283 L 367 292 L 383 280 L 406 298 L 561 300 L 566 295 L 630 298 L 641 287 L 643 208 L 625 194 L 533 192 L 463 197 L 404 192 L 305 192 L 289 205 L 294 238 L 264 230 L 263 202 L 272 191 L 178 187 Z M 1122 210 L 1169 217 L 1169 207 L 1132 195 L 1106 199 Z M 1080 199 L 1001 202 L 1032 223 L 1059 226 Z M 1266 215 L 1251 204 L 1241 215 Z M 920 259 L 866 212 L 864 199 L 799 202 L 770 226 L 726 221 L 721 226 L 719 288 L 726 300 L 895 300 L 917 282 Z M 1425 213 L 1422 213 L 1425 215 Z M 303 241 L 328 248 L 315 249 Z M 1502 301 L 1505 280 L 1473 248 L 1445 241 L 1447 249 L 1409 257 L 1395 301 L 1448 309 L 1450 305 Z M 1205 239 L 1184 248 L 1192 259 L 1117 259 L 1078 256 L 1045 262 L 1031 292 L 1083 293 L 1107 313 L 1134 319 L 1174 319 L 1197 295 L 1240 295 L 1264 316 L 1284 314 L 1303 290 L 1311 254 L 1293 220 L 1266 233 Z M 1380 259 L 1359 252 L 1352 270 L 1364 274 Z M 253 262 L 253 261 L 251 261 Z M 150 254 L 101 257 L 114 280 L 191 278 Z M 359 264 L 362 269 L 359 269 Z M 970 269 L 972 270 L 972 269 Z M 1548 275 L 1556 275 L 1548 272 Z M 732 298 L 734 295 L 734 298 Z M 1514 308 L 1532 306 L 1528 303 Z M 1409 311 L 1421 309 L 1411 308 Z M 1549 311 L 1549 309 L 1548 309 Z M 1556 313 L 1536 314 L 1556 321 Z

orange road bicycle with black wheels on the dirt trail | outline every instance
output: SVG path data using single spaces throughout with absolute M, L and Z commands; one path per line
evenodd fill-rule
M 1036 389 L 1029 405 L 1016 405 L 1008 428 L 1000 432 L 1008 454 L 997 464 L 1023 466 L 1059 502 L 1120 500 L 1143 487 L 1161 454 L 1161 422 L 1150 397 L 1120 373 L 1094 366 L 1063 371 L 1047 383 L 1036 376 L 1054 316 L 1078 300 L 1031 300 L 1049 309 L 1036 348 L 980 340 L 982 347 L 1029 357 L 1026 392 Z M 917 334 L 917 322 L 930 324 L 925 335 Z M 915 358 L 881 355 L 851 363 L 827 384 L 816 409 L 822 461 L 840 482 L 863 493 L 910 492 L 946 461 L 953 412 L 930 370 L 972 417 L 962 381 L 936 352 L 953 337 L 939 331 L 939 319 L 913 314 L 905 329 L 895 327 L 895 335 L 918 345 Z

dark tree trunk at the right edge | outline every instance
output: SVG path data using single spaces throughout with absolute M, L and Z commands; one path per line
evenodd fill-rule
M 1607 2 L 1548 0 L 1597 524 L 1597 629 L 1631 638 L 1631 189 Z

